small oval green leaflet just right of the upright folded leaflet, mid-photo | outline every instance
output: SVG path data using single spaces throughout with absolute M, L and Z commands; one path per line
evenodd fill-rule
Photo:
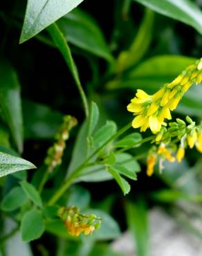
M 116 134 L 117 127 L 116 122 L 107 121 L 98 131 L 93 135 L 93 147 L 97 149 L 101 147 L 104 143 Z

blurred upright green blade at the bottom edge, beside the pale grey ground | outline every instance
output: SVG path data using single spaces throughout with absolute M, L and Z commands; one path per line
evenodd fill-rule
M 141 203 L 127 203 L 127 223 L 134 241 L 137 256 L 149 256 L 149 228 L 147 210 Z

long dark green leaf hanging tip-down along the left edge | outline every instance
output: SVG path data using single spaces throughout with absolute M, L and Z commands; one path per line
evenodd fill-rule
M 10 128 L 19 152 L 23 151 L 23 120 L 21 113 L 20 86 L 15 70 L 5 61 L 0 61 L 0 107 L 3 119 Z

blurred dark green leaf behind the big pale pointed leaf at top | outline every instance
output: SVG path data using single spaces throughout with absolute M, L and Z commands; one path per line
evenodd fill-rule
M 95 20 L 86 12 L 75 9 L 57 21 L 67 42 L 106 60 L 113 60 L 109 47 Z

